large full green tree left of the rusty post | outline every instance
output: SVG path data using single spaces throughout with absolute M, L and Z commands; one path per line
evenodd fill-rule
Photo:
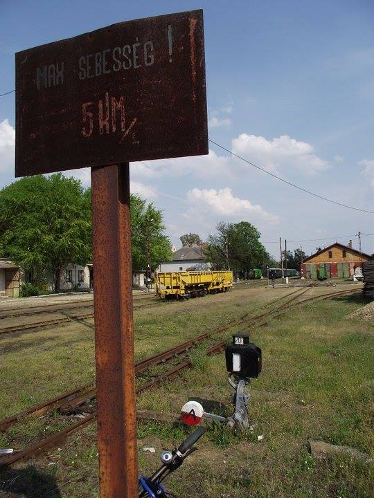
M 91 259 L 91 191 L 57 173 L 30 176 L 0 191 L 0 253 L 40 282 Z

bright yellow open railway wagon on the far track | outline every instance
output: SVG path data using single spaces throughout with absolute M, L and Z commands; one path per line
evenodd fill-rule
M 233 272 L 158 272 L 154 281 L 161 299 L 189 299 L 229 291 L 233 286 Z

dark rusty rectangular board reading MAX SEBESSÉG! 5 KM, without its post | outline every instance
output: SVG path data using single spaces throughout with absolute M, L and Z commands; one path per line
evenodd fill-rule
M 208 154 L 202 10 L 16 54 L 15 175 Z

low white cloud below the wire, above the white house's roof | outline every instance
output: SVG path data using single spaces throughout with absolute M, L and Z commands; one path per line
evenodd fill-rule
M 190 204 L 187 216 L 195 216 L 195 213 L 213 214 L 221 219 L 262 219 L 264 221 L 277 222 L 276 214 L 265 211 L 260 205 L 252 204 L 247 199 L 233 196 L 229 187 L 215 189 L 194 188 L 187 192 L 187 201 Z

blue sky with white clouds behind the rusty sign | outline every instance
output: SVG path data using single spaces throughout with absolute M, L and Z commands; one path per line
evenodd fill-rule
M 209 137 L 330 199 L 374 211 L 373 1 L 0 1 L 0 93 L 18 50 L 128 19 L 204 9 Z M 0 98 L 0 187 L 14 180 L 14 94 Z M 278 255 L 374 232 L 373 214 L 287 187 L 211 145 L 209 156 L 131 165 L 132 190 L 164 210 L 176 246 L 247 220 Z M 89 184 L 89 170 L 74 172 Z M 330 239 L 331 237 L 331 239 Z M 310 241 L 310 239 L 323 239 Z M 374 252 L 374 237 L 362 239 Z

